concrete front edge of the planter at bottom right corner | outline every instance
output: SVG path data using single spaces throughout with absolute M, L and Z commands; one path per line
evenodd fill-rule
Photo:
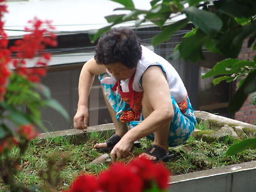
M 180 192 L 254 192 L 256 191 L 256 161 L 213 168 L 171 179 L 170 191 Z

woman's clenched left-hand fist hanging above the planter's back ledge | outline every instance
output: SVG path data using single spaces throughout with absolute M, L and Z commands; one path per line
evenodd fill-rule
M 74 116 L 74 128 L 80 130 L 87 129 L 88 118 L 88 108 L 85 106 L 77 108 L 76 115 Z

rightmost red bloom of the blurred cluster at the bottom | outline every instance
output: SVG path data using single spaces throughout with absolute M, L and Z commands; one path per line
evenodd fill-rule
M 154 163 L 146 158 L 131 161 L 129 168 L 141 177 L 144 189 L 149 189 L 152 184 L 157 184 L 160 189 L 167 189 L 170 181 L 170 172 L 163 163 Z

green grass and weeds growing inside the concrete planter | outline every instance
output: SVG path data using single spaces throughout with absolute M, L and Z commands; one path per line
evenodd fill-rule
M 202 130 L 205 129 L 202 128 Z M 113 132 L 109 132 L 106 138 L 109 138 L 111 134 Z M 72 144 L 72 140 L 65 137 L 48 138 L 44 143 L 40 140 L 33 140 L 29 145 L 28 152 L 21 159 L 17 182 L 24 186 L 43 186 L 49 177 L 58 177 L 58 179 L 52 180 L 52 185 L 56 185 L 58 190 L 63 190 L 67 189 L 79 173 L 86 172 L 97 175 L 109 165 L 106 163 L 90 164 L 95 158 L 102 155 L 93 148 L 93 145 L 104 141 L 105 139 L 97 132 L 92 132 L 89 140 L 79 145 Z M 142 138 L 140 141 L 141 148 L 134 148 L 131 157 L 120 161 L 129 163 L 132 158 L 141 154 L 152 144 L 152 141 L 147 138 Z M 228 147 L 236 142 L 236 140 L 227 138 L 221 142 L 206 143 L 191 136 L 183 145 L 170 148 L 175 156 L 166 163 L 166 166 L 172 175 L 179 175 L 255 160 L 256 150 L 251 149 L 244 150 L 236 156 L 225 156 Z M 11 156 L 14 157 L 18 154 L 19 149 L 13 148 Z M 49 172 L 49 167 L 54 170 L 53 173 Z M 6 189 L 1 181 L 0 189 Z

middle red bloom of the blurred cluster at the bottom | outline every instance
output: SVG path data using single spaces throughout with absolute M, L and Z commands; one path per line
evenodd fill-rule
M 115 163 L 99 175 L 99 184 L 106 192 L 141 192 L 143 182 L 140 177 L 122 163 Z

